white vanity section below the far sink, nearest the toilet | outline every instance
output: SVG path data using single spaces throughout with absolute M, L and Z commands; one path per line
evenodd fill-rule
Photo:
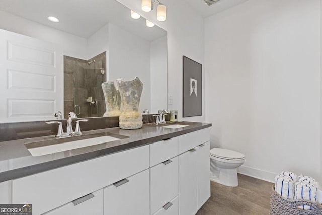
M 210 197 L 209 129 L 178 138 L 179 214 L 196 214 Z

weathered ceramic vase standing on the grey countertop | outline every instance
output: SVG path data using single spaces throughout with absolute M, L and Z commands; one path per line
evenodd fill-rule
M 117 79 L 123 110 L 119 117 L 119 126 L 122 129 L 138 129 L 143 125 L 142 114 L 138 112 L 143 83 L 138 77 L 124 81 Z

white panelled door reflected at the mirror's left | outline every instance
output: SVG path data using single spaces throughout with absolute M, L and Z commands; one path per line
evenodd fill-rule
M 63 111 L 63 49 L 0 29 L 0 123 L 55 119 Z

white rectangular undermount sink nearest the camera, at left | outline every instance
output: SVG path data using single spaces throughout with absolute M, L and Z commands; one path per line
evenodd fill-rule
M 41 156 L 57 152 L 63 152 L 67 150 L 78 149 L 82 147 L 93 146 L 97 144 L 103 144 L 105 142 L 111 142 L 123 138 L 127 138 L 127 136 L 113 135 L 111 133 L 99 133 L 89 134 L 85 136 L 75 136 L 54 140 L 31 142 L 29 144 L 25 144 L 25 146 L 27 147 L 32 156 Z

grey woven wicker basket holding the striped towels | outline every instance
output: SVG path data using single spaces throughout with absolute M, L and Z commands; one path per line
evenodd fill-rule
M 312 207 L 312 210 L 303 210 L 297 208 L 297 206 L 308 205 Z M 270 215 L 321 215 L 322 206 L 319 206 L 313 202 L 305 200 L 288 200 L 283 198 L 277 192 L 275 192 L 275 186 L 272 186 L 271 202 L 270 202 Z

